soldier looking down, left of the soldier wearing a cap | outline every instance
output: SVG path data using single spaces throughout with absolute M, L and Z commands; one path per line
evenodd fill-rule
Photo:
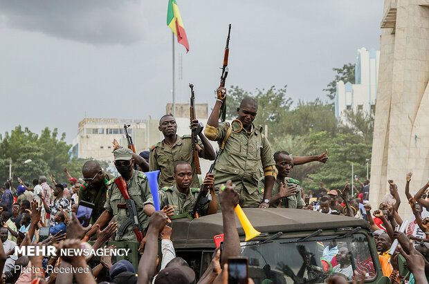
M 100 164 L 95 161 L 87 161 L 84 163 L 82 175 L 84 176 L 84 184 L 82 184 L 79 189 L 79 200 L 93 203 L 94 209 L 91 216 L 92 224 L 104 211 L 107 183 L 113 177 L 104 173 Z

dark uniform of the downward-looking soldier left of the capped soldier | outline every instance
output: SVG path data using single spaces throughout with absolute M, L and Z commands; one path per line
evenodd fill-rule
M 104 203 L 106 203 L 107 195 L 107 184 L 112 178 L 112 176 L 109 176 L 107 173 L 104 173 L 104 180 L 102 181 L 101 187 L 98 190 L 96 190 L 94 187 L 90 186 L 86 182 L 80 186 L 79 200 L 91 202 L 94 205 L 94 209 L 91 215 L 91 219 L 93 222 L 91 222 L 91 224 L 95 223 L 95 221 L 104 211 Z

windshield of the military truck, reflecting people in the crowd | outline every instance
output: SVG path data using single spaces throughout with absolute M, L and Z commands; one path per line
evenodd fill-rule
M 248 257 L 248 273 L 255 284 L 324 283 L 332 274 L 354 278 L 354 270 L 367 279 L 376 277 L 367 237 L 316 236 L 276 239 L 269 243 L 248 242 L 241 246 Z

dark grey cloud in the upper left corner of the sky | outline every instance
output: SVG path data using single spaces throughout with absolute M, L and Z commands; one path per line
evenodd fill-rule
M 95 46 L 134 44 L 147 26 L 140 0 L 1 0 L 0 20 L 9 28 Z

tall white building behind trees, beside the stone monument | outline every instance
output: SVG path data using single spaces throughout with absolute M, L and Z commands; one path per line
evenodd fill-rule
M 345 111 L 363 111 L 374 115 L 377 97 L 378 62 L 380 50 L 358 49 L 355 67 L 355 83 L 337 82 L 335 95 L 335 116 L 347 123 Z

